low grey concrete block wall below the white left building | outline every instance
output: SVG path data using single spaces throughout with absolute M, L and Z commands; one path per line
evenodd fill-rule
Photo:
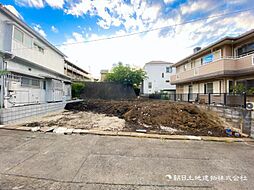
M 57 102 L 0 109 L 0 124 L 15 123 L 32 116 L 60 111 L 65 105 L 65 102 Z

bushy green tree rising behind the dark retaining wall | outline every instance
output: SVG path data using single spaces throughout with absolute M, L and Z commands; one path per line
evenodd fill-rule
M 119 82 L 133 86 L 134 90 L 139 89 L 140 84 L 146 78 L 146 73 L 142 69 L 124 66 L 121 62 L 113 68 L 112 72 L 106 75 L 106 81 Z

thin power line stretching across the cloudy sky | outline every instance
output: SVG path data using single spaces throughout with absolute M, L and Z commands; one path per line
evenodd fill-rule
M 105 40 L 111 40 L 111 39 L 116 39 L 116 38 L 125 38 L 125 37 L 134 36 L 134 35 L 153 32 L 153 31 L 157 31 L 157 30 L 163 30 L 163 29 L 170 28 L 170 27 L 176 27 L 176 26 L 186 25 L 186 24 L 190 24 L 190 23 L 194 23 L 194 22 L 199 22 L 199 21 L 202 21 L 202 20 L 208 20 L 208 19 L 212 19 L 212 18 L 219 18 L 219 17 L 225 17 L 225 16 L 232 15 L 232 14 L 248 12 L 248 11 L 251 11 L 251 10 L 254 10 L 254 7 L 251 7 L 249 9 L 242 9 L 242 10 L 238 10 L 238 11 L 232 11 L 232 12 L 228 12 L 228 13 L 223 13 L 223 14 L 218 14 L 218 15 L 193 19 L 193 20 L 185 21 L 185 22 L 178 23 L 178 24 L 172 24 L 172 25 L 167 25 L 167 26 L 162 26 L 162 27 L 157 27 L 157 28 L 151 28 L 151 29 L 148 29 L 148 30 L 144 30 L 144 31 L 140 31 L 140 32 L 133 32 L 133 33 L 130 33 L 130 34 L 111 36 L 111 37 L 99 38 L 99 39 L 94 39 L 94 40 L 85 40 L 85 41 L 80 41 L 80 42 L 62 43 L 62 44 L 56 44 L 54 46 L 68 46 L 68 45 L 75 45 L 75 44 L 82 44 L 82 43 L 105 41 Z M 13 49 L 13 50 L 19 50 L 19 49 L 33 49 L 33 48 L 17 48 L 17 49 Z

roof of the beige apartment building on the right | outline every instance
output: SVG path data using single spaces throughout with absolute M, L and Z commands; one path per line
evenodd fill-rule
M 250 31 L 247 31 L 246 33 L 243 33 L 237 37 L 230 37 L 230 36 L 226 36 L 204 48 L 202 48 L 201 50 L 199 50 L 198 52 L 196 53 L 193 53 L 191 54 L 190 56 L 178 61 L 177 63 L 175 63 L 173 66 L 179 66 L 179 65 L 182 65 L 186 60 L 194 57 L 194 56 L 197 56 L 199 54 L 202 54 L 203 52 L 207 51 L 208 49 L 214 47 L 214 46 L 217 46 L 217 45 L 222 45 L 222 44 L 227 44 L 227 43 L 232 43 L 232 41 L 236 41 L 236 40 L 240 40 L 241 38 L 244 38 L 250 34 L 254 34 L 254 29 L 250 30 Z

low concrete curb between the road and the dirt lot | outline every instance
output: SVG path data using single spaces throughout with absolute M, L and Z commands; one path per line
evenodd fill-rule
M 232 138 L 232 137 L 210 137 L 210 136 L 192 136 L 192 135 L 164 135 L 164 134 L 149 134 L 137 132 L 123 132 L 123 131 L 96 131 L 86 129 L 65 129 L 57 130 L 59 128 L 51 128 L 50 131 L 45 131 L 39 127 L 15 127 L 15 126 L 0 126 L 0 129 L 17 130 L 17 131 L 31 131 L 43 133 L 56 133 L 56 134 L 79 134 L 79 135 L 100 135 L 100 136 L 119 136 L 119 137 L 136 137 L 136 138 L 152 138 L 162 140 L 194 140 L 194 141 L 213 141 L 213 142 L 254 142 L 251 138 Z M 58 132 L 60 131 L 60 132 Z

